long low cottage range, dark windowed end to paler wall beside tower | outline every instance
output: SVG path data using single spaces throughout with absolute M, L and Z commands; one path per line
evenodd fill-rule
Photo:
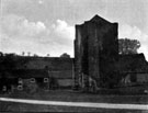
M 71 71 L 49 71 L 43 69 L 18 69 L 12 75 L 18 78 L 18 90 L 29 88 L 34 84 L 36 88 L 52 90 L 59 88 L 71 88 Z

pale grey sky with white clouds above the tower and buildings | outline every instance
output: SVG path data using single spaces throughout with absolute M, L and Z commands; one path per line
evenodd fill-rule
M 0 50 L 73 56 L 75 25 L 95 14 L 140 41 L 148 59 L 148 0 L 0 0 Z

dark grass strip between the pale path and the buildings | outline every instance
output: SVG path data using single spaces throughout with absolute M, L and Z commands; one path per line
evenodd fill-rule
M 38 91 L 35 93 L 26 93 L 20 91 L 0 97 L 8 97 L 15 99 L 49 100 L 49 101 L 148 104 L 148 95 L 144 94 L 143 95 L 93 94 L 93 93 L 73 92 L 70 90 Z

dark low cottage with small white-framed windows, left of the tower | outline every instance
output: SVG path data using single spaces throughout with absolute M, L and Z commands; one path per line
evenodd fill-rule
M 48 74 L 45 70 L 34 70 L 34 69 L 14 69 L 10 72 L 11 78 L 7 76 L 7 81 L 11 86 L 11 91 L 13 90 L 26 90 L 31 86 L 32 90 L 42 87 L 48 89 L 48 83 L 45 79 L 49 79 Z

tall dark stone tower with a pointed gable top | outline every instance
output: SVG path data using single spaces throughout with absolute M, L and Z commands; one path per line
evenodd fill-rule
M 76 25 L 75 83 L 89 87 L 90 79 L 98 87 L 107 83 L 118 60 L 117 23 L 111 23 L 99 15 L 81 25 Z

